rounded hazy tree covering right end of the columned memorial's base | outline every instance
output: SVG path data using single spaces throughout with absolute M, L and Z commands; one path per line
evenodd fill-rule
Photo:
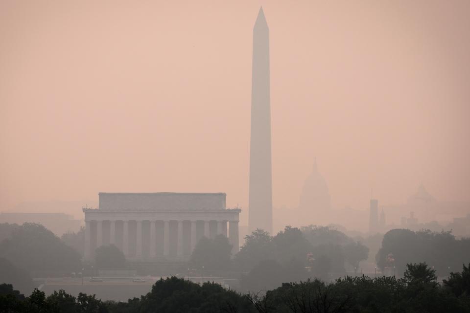
M 232 245 L 224 235 L 202 237 L 191 253 L 190 266 L 207 270 L 227 270 L 231 266 Z

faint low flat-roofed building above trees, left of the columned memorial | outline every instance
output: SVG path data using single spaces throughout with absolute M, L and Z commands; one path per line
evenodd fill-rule
M 37 223 L 52 231 L 57 236 L 80 230 L 82 221 L 74 220 L 72 215 L 64 213 L 0 213 L 0 223 L 23 224 Z

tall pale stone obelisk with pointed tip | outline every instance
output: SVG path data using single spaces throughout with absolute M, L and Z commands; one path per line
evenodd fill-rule
M 259 9 L 253 28 L 251 87 L 249 230 L 272 233 L 271 105 L 269 87 L 269 28 Z

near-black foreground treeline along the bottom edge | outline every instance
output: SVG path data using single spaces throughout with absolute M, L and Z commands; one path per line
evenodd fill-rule
M 468 313 L 470 264 L 438 284 L 435 270 L 425 263 L 408 264 L 403 278 L 346 276 L 333 283 L 320 280 L 283 283 L 274 290 L 238 293 L 218 284 L 202 286 L 170 277 L 160 279 L 152 291 L 127 302 L 101 301 L 94 295 L 77 297 L 65 291 L 46 296 L 34 290 L 28 297 L 0 285 L 0 312 L 71 313 Z

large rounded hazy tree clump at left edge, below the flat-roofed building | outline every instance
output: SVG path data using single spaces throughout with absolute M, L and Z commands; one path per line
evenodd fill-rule
M 75 270 L 80 255 L 43 225 L 24 223 L 0 243 L 0 257 L 28 270 Z

